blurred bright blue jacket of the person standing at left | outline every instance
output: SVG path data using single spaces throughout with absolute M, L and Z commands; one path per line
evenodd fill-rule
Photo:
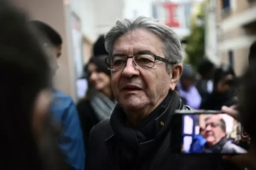
M 73 170 L 84 170 L 85 147 L 75 103 L 65 93 L 54 91 L 51 111 L 55 120 L 60 122 L 63 128 L 63 132 L 58 137 L 58 144 L 66 163 Z

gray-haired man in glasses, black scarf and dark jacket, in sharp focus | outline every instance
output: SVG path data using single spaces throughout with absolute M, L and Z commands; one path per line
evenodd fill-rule
M 199 170 L 205 161 L 172 153 L 175 110 L 190 109 L 175 91 L 183 66 L 173 30 L 147 17 L 120 20 L 105 47 L 117 105 L 90 133 L 86 170 Z

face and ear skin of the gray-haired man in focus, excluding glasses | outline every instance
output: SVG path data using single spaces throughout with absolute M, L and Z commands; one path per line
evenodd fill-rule
M 139 54 L 165 58 L 164 45 L 160 38 L 146 30 L 134 30 L 115 40 L 112 55 Z M 152 68 L 137 69 L 129 58 L 124 70 L 111 72 L 112 90 L 124 110 L 148 114 L 164 100 L 170 89 L 174 90 L 181 72 L 182 66 L 179 65 L 169 74 L 166 63 L 158 60 Z

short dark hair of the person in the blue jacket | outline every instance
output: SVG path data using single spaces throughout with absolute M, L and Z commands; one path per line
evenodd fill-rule
M 44 36 L 48 38 L 48 40 L 55 47 L 62 44 L 62 38 L 59 35 L 59 33 L 48 24 L 42 21 L 32 20 L 32 21 L 29 21 L 29 25 L 38 29 Z

